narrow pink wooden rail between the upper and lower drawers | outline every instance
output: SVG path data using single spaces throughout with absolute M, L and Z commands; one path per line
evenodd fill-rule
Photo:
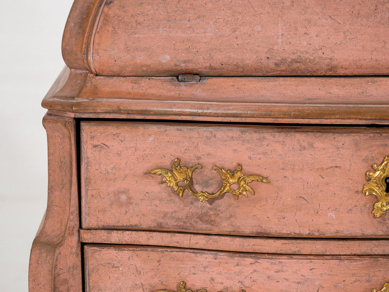
M 130 230 L 80 230 L 81 242 L 285 255 L 389 255 L 387 239 L 272 238 Z

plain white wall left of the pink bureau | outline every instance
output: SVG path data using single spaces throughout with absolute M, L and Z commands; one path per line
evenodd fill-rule
M 40 102 L 65 66 L 72 0 L 0 0 L 0 291 L 28 292 L 31 244 L 46 209 Z

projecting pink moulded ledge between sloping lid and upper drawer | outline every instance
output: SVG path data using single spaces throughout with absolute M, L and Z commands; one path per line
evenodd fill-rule
M 99 76 L 66 67 L 42 101 L 82 118 L 387 124 L 389 77 Z

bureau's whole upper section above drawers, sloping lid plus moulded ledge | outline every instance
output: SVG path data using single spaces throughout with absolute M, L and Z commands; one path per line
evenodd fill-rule
M 388 29 L 381 0 L 75 0 L 62 43 L 68 68 L 43 106 L 74 116 L 386 123 Z

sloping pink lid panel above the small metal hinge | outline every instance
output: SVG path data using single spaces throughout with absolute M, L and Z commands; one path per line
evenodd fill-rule
M 109 0 L 88 62 L 109 76 L 388 74 L 388 11 L 382 0 Z

